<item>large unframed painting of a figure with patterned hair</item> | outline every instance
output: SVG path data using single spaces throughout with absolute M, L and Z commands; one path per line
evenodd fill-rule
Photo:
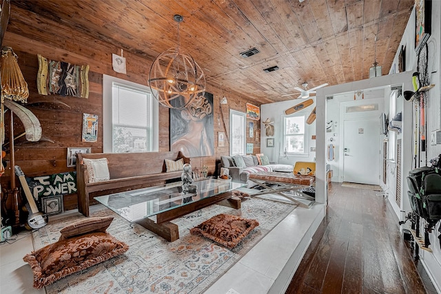
M 187 157 L 214 155 L 213 94 L 205 92 L 184 109 L 170 109 L 170 150 Z

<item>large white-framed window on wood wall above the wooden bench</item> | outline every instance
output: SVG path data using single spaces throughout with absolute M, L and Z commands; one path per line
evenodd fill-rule
M 150 87 L 103 76 L 105 152 L 158 151 L 158 101 Z

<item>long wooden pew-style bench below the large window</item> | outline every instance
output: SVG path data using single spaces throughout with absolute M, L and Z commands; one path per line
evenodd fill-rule
M 83 159 L 107 158 L 110 180 L 89 182 L 87 167 Z M 181 151 L 143 153 L 92 153 L 76 154 L 76 187 L 78 210 L 89 216 L 89 205 L 96 204 L 94 196 L 160 185 L 172 180 L 181 180 L 182 171 L 169 171 L 165 159 L 190 163 L 190 158 Z

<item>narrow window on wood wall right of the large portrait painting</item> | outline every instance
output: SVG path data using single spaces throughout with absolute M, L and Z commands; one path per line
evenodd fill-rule
M 246 114 L 230 110 L 229 112 L 229 154 L 245 154 L 246 152 Z

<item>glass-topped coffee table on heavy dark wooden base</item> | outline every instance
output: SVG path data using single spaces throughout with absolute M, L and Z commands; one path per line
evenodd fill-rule
M 141 224 L 170 242 L 179 239 L 178 226 L 170 220 L 212 204 L 240 209 L 232 191 L 246 184 L 226 180 L 199 180 L 195 193 L 182 193 L 182 182 L 97 196 L 94 199 L 130 222 Z

